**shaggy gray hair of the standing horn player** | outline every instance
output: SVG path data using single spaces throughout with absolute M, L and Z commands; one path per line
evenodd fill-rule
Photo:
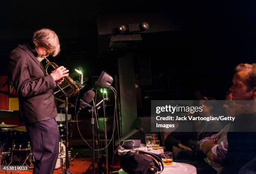
M 53 50 L 52 56 L 60 52 L 59 38 L 53 30 L 42 28 L 33 33 L 33 43 L 36 47 Z

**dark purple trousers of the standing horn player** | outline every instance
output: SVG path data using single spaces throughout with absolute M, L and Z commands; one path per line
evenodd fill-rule
M 26 124 L 35 158 L 33 174 L 53 174 L 59 155 L 59 129 L 56 119 Z

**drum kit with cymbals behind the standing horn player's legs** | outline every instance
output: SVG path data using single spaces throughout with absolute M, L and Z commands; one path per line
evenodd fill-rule
M 68 123 L 74 124 L 76 120 L 68 120 Z M 81 121 L 78 121 L 81 122 Z M 59 156 L 55 169 L 61 171 L 65 168 L 66 147 L 62 139 L 66 136 L 66 126 L 63 121 L 57 121 L 60 139 L 59 139 Z M 71 151 L 69 151 L 69 161 L 72 161 Z M 14 124 L 0 124 L 0 169 L 2 165 L 26 165 L 30 169 L 34 163 L 31 151 L 30 139 L 25 126 Z M 73 165 L 73 164 L 72 164 Z

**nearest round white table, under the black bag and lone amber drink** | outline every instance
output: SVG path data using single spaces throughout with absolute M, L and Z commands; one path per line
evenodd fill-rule
M 173 162 L 173 164 L 175 164 L 175 162 Z M 164 166 L 164 171 L 161 174 L 197 174 L 197 169 L 195 168 L 195 166 L 192 166 L 190 164 L 185 164 L 185 163 L 176 163 L 176 164 L 179 164 L 179 166 L 187 168 L 187 171 L 170 171 L 168 169 L 169 167 Z M 123 171 L 123 169 L 120 169 L 118 171 L 118 174 L 128 174 L 128 173 Z

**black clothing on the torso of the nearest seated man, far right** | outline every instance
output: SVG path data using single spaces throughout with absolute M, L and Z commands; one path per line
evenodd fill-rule
M 238 174 L 256 157 L 256 113 L 236 116 L 228 132 L 228 153 L 223 174 Z

